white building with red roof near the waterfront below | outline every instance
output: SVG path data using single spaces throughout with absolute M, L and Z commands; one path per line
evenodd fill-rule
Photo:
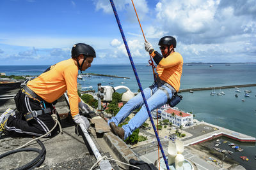
M 193 114 L 185 113 L 184 111 L 179 111 L 178 108 L 171 108 L 168 104 L 164 104 L 161 108 L 159 108 L 158 113 L 156 110 L 152 111 L 152 117 L 161 118 L 161 120 L 167 119 L 169 122 L 172 122 L 172 125 L 180 127 L 186 127 L 189 125 L 193 125 Z

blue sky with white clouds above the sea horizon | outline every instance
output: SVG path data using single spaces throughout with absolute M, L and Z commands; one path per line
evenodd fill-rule
M 147 63 L 131 0 L 114 0 L 132 58 Z M 184 62 L 256 62 L 255 0 L 134 0 L 147 40 L 177 38 Z M 1 0 L 0 65 L 55 64 L 75 43 L 93 46 L 93 64 L 129 63 L 107 0 Z

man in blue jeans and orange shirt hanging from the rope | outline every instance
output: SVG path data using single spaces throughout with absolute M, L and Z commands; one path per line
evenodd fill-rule
M 143 90 L 150 111 L 160 108 L 168 103 L 175 106 L 179 103 L 180 77 L 182 74 L 183 59 L 180 53 L 175 52 L 176 39 L 172 36 L 164 36 L 159 40 L 161 53 L 156 52 L 152 45 L 145 42 L 145 50 L 150 53 L 157 64 L 156 81 L 150 87 Z M 141 107 L 141 110 L 128 122 L 118 127 L 133 110 Z M 133 131 L 138 129 L 148 118 L 147 108 L 141 93 L 129 100 L 115 117 L 108 121 L 111 131 L 121 139 L 128 138 Z

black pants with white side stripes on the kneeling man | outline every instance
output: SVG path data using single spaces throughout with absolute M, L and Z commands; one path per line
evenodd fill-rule
M 17 95 L 14 97 L 15 104 L 17 107 L 17 111 L 15 116 L 10 116 L 8 118 L 6 124 L 6 130 L 12 136 L 20 136 L 23 135 L 32 135 L 32 136 L 42 136 L 42 134 L 46 134 L 51 131 L 52 127 L 54 127 L 54 120 L 51 117 L 51 113 L 46 113 L 43 115 L 39 115 L 32 120 L 26 121 L 24 114 L 33 110 L 42 110 L 44 107 L 43 103 L 28 97 L 26 94 L 19 90 Z M 45 103 L 46 108 L 52 107 L 51 104 Z M 53 133 L 56 132 L 52 131 Z M 46 137 L 51 136 L 52 134 L 48 134 Z

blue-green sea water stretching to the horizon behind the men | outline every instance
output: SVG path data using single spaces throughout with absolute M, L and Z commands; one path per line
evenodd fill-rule
M 143 89 L 151 85 L 154 81 L 152 75 L 152 67 L 147 64 L 136 64 L 136 70 L 140 78 Z M 197 87 L 220 87 L 225 85 L 242 85 L 256 83 L 256 64 L 195 64 L 186 66 L 184 64 L 181 78 L 180 89 L 191 89 Z M 49 66 L 0 66 L 0 73 L 7 75 L 39 75 Z M 116 76 L 129 77 L 109 78 L 104 76 L 83 77 L 83 80 L 77 80 L 82 87 L 90 87 L 97 91 L 97 84 L 110 85 L 116 87 L 125 85 L 132 90 L 138 92 L 138 84 L 132 67 L 130 64 L 93 64 L 83 73 L 99 73 L 110 74 Z M 210 124 L 225 127 L 227 129 L 241 132 L 256 137 L 256 87 L 241 87 L 240 93 L 236 93 L 235 89 L 215 89 L 216 93 L 223 91 L 223 96 L 211 96 L 212 90 L 195 91 L 193 94 L 182 92 L 183 100 L 177 104 L 180 110 L 193 112 L 195 118 L 204 120 Z M 252 90 L 250 97 L 244 97 L 244 90 Z M 118 92 L 123 92 L 118 90 Z M 238 94 L 238 97 L 235 97 Z M 242 101 L 244 99 L 245 101 Z M 256 147 L 253 144 L 244 145 L 242 148 L 248 148 L 252 157 L 256 153 Z

